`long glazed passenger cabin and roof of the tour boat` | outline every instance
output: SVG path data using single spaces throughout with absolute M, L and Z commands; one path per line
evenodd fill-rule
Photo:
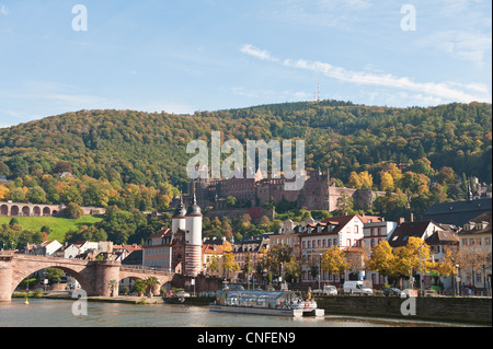
M 219 304 L 255 307 L 284 307 L 297 300 L 291 291 L 240 291 L 223 290 L 218 292 Z

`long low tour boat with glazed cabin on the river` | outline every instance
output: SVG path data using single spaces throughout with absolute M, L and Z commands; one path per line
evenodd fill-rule
M 293 291 L 245 290 L 218 291 L 209 311 L 278 316 L 324 316 L 325 313 L 317 309 L 316 301 L 301 300 Z

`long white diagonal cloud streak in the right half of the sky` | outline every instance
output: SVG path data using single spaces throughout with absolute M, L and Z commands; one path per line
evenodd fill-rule
M 262 51 L 262 57 L 271 57 L 271 54 L 267 50 L 256 50 Z M 244 50 L 243 53 L 260 58 L 260 55 Z M 285 67 L 305 69 L 316 73 L 321 73 L 328 78 L 335 79 L 341 82 L 354 83 L 358 85 L 383 86 L 419 93 L 416 96 L 420 100 L 429 100 L 435 97 L 443 98 L 445 101 L 463 103 L 469 103 L 472 101 L 491 102 L 489 89 L 478 83 L 461 84 L 457 82 L 414 82 L 408 77 L 395 77 L 390 73 L 352 71 L 342 67 L 332 66 L 328 62 L 305 59 L 285 59 L 282 63 Z

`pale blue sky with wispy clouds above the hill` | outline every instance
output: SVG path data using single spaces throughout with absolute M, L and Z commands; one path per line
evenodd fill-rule
M 492 102 L 491 0 L 0 0 L 0 128 L 80 109 Z

